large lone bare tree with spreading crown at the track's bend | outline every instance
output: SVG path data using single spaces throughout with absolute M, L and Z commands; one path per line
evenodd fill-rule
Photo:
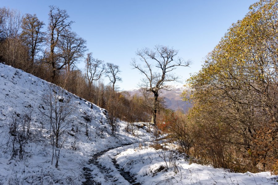
M 178 50 L 168 46 L 157 45 L 154 50 L 143 48 L 137 50 L 136 55 L 144 65 L 138 64 L 135 58 L 132 59 L 131 65 L 138 69 L 145 76 L 140 84 L 141 88 L 147 92 L 154 93 L 152 123 L 156 124 L 156 113 L 158 110 L 158 95 L 160 89 L 170 90 L 171 86 L 167 82 L 177 81 L 179 76 L 172 73 L 177 66 L 189 66 L 190 61 L 184 61 L 178 57 Z M 155 70 L 156 67 L 158 70 Z

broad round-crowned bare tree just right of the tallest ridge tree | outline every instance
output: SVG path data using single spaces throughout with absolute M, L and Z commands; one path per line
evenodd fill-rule
M 86 40 L 69 30 L 62 32 L 58 45 L 61 49 L 61 57 L 64 60 L 66 72 L 72 71 L 76 67 L 75 64 L 87 51 Z

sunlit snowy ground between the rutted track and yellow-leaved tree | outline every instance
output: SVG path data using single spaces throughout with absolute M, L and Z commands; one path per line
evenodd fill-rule
M 166 146 L 164 146 L 166 147 Z M 167 148 L 167 147 L 166 147 Z M 137 182 L 149 184 L 200 184 L 200 185 L 266 185 L 278 184 L 278 176 L 269 172 L 230 173 L 227 170 L 199 164 L 189 164 L 175 150 L 155 150 L 152 147 L 135 147 L 116 156 L 117 163 Z M 165 159 L 165 160 L 164 160 Z M 168 168 L 166 167 L 166 162 Z M 171 162 L 170 162 L 171 161 Z

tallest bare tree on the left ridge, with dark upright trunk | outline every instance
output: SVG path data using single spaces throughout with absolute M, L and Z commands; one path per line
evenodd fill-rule
M 66 29 L 69 29 L 73 21 L 68 22 L 67 19 L 70 17 L 66 10 L 61 10 L 57 6 L 49 6 L 50 10 L 48 13 L 48 34 L 50 43 L 49 63 L 52 67 L 52 81 L 55 78 L 55 72 L 61 70 L 66 63 L 58 60 L 59 55 L 56 53 L 57 44 L 59 37 Z

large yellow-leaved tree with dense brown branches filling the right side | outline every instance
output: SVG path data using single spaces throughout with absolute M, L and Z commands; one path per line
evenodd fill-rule
M 188 80 L 200 137 L 192 154 L 215 167 L 277 174 L 278 2 L 249 9 Z

